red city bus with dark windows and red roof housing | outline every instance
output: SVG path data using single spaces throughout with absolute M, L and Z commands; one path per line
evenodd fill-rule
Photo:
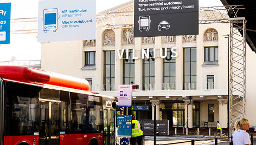
M 0 144 L 114 144 L 114 97 L 80 78 L 0 66 Z

